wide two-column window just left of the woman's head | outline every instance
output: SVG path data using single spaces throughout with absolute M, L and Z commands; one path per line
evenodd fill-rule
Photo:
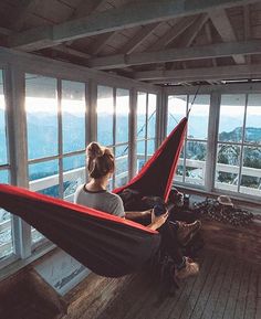
M 25 111 L 30 189 L 72 201 L 85 181 L 85 84 L 27 74 Z

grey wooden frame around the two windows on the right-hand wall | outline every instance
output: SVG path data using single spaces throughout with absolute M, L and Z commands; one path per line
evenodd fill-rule
M 164 95 L 166 100 L 166 108 L 163 109 L 163 117 L 167 124 L 168 118 L 168 96 L 169 95 L 192 95 L 198 91 L 198 87 L 167 87 L 164 88 Z M 242 83 L 242 84 L 226 84 L 215 86 L 200 86 L 200 95 L 210 94 L 210 109 L 209 109 L 209 126 L 208 126 L 208 145 L 207 145 L 207 160 L 206 160 L 206 185 L 200 187 L 196 184 L 181 183 L 174 181 L 176 187 L 180 187 L 185 190 L 196 191 L 203 194 L 227 194 L 236 200 L 257 203 L 260 205 L 260 196 L 244 194 L 241 192 L 232 192 L 228 190 L 220 190 L 215 188 L 215 176 L 216 176 L 216 158 L 218 147 L 218 129 L 219 129 L 219 114 L 220 103 L 222 94 L 261 94 L 261 83 Z M 247 102 L 246 102 L 247 103 Z M 246 118 L 246 114 L 244 114 Z M 167 125 L 164 128 L 164 136 L 166 137 Z M 243 139 L 242 139 L 243 142 Z M 247 145 L 247 142 L 243 142 Z M 252 146 L 252 145 L 251 145 Z M 242 153 L 242 150 L 241 150 Z M 242 169 L 242 168 L 241 168 Z M 241 172 L 241 171 L 240 171 Z M 240 183 L 239 183 L 240 187 Z

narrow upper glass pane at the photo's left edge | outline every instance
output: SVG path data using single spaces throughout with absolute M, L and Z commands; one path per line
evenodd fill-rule
M 3 76 L 0 70 L 0 164 L 8 163 L 7 136 L 6 136 L 6 102 L 3 94 Z

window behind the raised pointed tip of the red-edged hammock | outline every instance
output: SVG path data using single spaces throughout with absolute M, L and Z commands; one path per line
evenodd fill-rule
M 180 95 L 168 97 L 167 134 L 191 108 L 185 145 L 178 161 L 175 180 L 203 187 L 207 160 L 209 95 Z

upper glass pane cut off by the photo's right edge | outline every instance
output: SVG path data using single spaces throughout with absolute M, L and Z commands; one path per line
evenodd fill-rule
M 261 94 L 249 94 L 244 140 L 261 143 Z

